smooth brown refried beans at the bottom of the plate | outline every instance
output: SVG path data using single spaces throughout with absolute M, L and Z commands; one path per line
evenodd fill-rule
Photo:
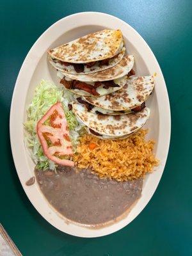
M 36 180 L 49 203 L 68 220 L 99 225 L 115 220 L 141 196 L 143 180 L 99 179 L 89 170 L 58 168 L 36 171 Z

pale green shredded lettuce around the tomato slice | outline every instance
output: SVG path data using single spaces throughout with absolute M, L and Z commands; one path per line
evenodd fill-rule
M 30 148 L 31 157 L 38 170 L 54 170 L 56 167 L 55 164 L 44 155 L 36 134 L 36 124 L 38 120 L 40 120 L 56 102 L 63 103 L 63 109 L 70 129 L 70 138 L 74 151 L 76 151 L 82 125 L 79 125 L 74 113 L 68 110 L 68 103 L 72 102 L 72 100 L 74 100 L 72 93 L 63 90 L 63 86 L 56 86 L 50 81 L 42 80 L 36 87 L 35 95 L 27 110 L 27 121 L 24 123 L 24 127 L 26 129 L 25 143 L 27 147 Z

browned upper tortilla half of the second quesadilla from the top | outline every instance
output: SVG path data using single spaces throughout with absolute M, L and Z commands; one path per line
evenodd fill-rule
M 134 65 L 134 56 L 129 55 L 122 58 L 122 60 L 114 67 L 95 72 L 93 74 L 67 74 L 62 72 L 66 77 L 70 79 L 76 79 L 83 82 L 96 82 L 96 81 L 108 81 L 120 78 L 131 72 Z M 132 75 L 132 73 L 130 74 Z

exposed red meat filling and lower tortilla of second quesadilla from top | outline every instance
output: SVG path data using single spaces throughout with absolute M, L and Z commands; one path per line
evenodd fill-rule
M 58 77 L 60 77 L 60 83 L 65 86 L 66 89 L 81 96 L 100 97 L 109 93 L 116 92 L 124 87 L 127 83 L 127 76 L 103 82 L 82 82 L 73 80 L 64 76 L 62 72 L 58 71 Z

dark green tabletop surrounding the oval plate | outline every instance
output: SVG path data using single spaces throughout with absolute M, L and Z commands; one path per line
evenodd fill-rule
M 25 256 L 192 255 L 192 1 L 1 0 L 0 3 L 0 221 L 19 250 Z M 86 11 L 115 15 L 143 36 L 162 68 L 172 109 L 168 161 L 152 200 L 127 227 L 94 239 L 64 234 L 38 214 L 20 185 L 9 138 L 13 88 L 29 49 L 51 24 L 72 13 Z

